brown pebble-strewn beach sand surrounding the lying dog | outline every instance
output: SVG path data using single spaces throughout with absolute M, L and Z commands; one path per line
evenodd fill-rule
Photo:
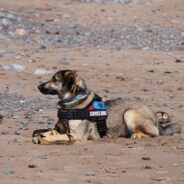
M 0 24 L 0 113 L 3 115 L 0 183 L 183 184 L 183 133 L 153 139 L 77 142 L 70 146 L 42 146 L 31 142 L 33 130 L 52 128 L 57 120 L 57 98 L 43 96 L 37 90 L 39 82 L 49 79 L 50 75 L 36 76 L 34 72 L 38 68 L 53 72 L 77 70 L 89 88 L 104 99 L 140 99 L 155 111 L 168 112 L 183 127 L 183 0 L 148 0 L 135 5 L 0 0 L 0 12 L 5 14 L 0 17 L 12 11 L 19 20 L 12 20 L 7 28 Z M 141 29 L 149 25 L 149 29 L 153 28 L 150 33 L 156 27 L 160 36 L 157 38 L 156 33 L 151 33 L 153 40 L 152 36 L 142 40 L 138 34 L 136 42 L 132 41 L 134 38 L 130 42 L 126 38 L 127 42 L 120 44 L 118 40 L 98 44 L 94 40 L 81 41 L 83 37 L 76 41 L 72 32 L 72 41 L 55 44 L 53 35 L 61 36 L 62 42 L 68 35 L 70 39 L 70 33 L 64 36 L 60 32 L 49 33 L 43 23 L 50 26 L 49 31 L 55 31 L 52 23 L 56 27 L 64 26 L 62 29 L 71 27 L 67 30 L 71 32 L 77 26 L 77 35 L 83 31 L 89 37 L 90 30 L 94 37 L 95 33 L 102 37 L 100 32 L 107 28 L 121 32 L 134 25 L 142 34 Z M 46 41 L 45 32 L 51 41 Z M 131 32 L 124 30 L 124 33 L 131 37 Z M 106 37 L 99 40 L 108 39 L 108 34 L 104 31 Z M 4 66 L 12 63 L 21 64 L 26 70 L 6 71 Z

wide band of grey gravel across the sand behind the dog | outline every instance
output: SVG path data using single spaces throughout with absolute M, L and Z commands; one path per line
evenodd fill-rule
M 15 15 L 14 15 L 15 16 Z M 123 25 L 111 24 L 108 26 L 82 26 L 60 21 L 33 21 L 26 15 L 16 17 L 15 21 L 7 17 L 0 18 L 0 22 L 10 23 L 11 26 L 2 28 L 0 38 L 15 40 L 21 43 L 37 43 L 41 41 L 40 49 L 48 45 L 54 47 L 110 47 L 130 48 L 158 51 L 183 51 L 184 29 L 177 27 L 163 27 L 161 25 Z M 25 29 L 29 34 L 17 36 L 16 30 Z M 15 33 L 15 34 L 12 34 Z

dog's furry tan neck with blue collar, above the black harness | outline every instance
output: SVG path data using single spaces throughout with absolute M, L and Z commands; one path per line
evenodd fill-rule
M 66 93 L 64 98 L 58 102 L 58 108 L 83 109 L 91 103 L 94 97 L 95 94 L 92 91 L 88 91 L 87 93 L 78 93 L 76 95 Z

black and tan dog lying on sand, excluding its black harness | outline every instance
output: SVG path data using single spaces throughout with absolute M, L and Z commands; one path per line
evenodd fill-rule
M 52 78 L 38 86 L 44 95 L 57 95 L 58 108 L 82 110 L 94 99 L 100 97 L 87 88 L 85 81 L 72 70 L 61 70 Z M 171 123 L 165 112 L 154 113 L 148 106 L 127 99 L 114 99 L 104 102 L 108 117 L 106 119 L 107 137 L 148 138 L 159 135 L 172 135 L 181 132 L 178 123 Z M 97 122 L 90 119 L 70 119 L 59 117 L 54 129 L 41 129 L 33 132 L 33 142 L 57 144 L 76 140 L 99 139 Z

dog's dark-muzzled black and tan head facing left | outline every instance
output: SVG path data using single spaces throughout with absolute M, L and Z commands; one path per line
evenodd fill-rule
M 58 95 L 60 99 L 87 91 L 84 80 L 72 70 L 58 71 L 49 81 L 39 85 L 38 89 L 45 95 Z

